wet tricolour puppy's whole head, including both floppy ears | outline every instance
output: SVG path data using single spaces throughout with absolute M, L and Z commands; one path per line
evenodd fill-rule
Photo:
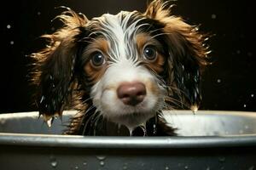
M 96 107 L 112 122 L 136 127 L 158 111 L 200 104 L 204 37 L 155 0 L 145 13 L 103 14 L 86 19 L 72 10 L 64 25 L 44 37 L 49 45 L 33 54 L 38 107 L 48 120 L 61 115 L 79 94 L 79 105 Z M 78 98 L 76 98 L 78 99 Z

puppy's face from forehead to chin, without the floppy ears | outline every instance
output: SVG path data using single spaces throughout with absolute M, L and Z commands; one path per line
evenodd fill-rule
M 81 53 L 90 97 L 102 116 L 135 127 L 164 103 L 166 51 L 160 24 L 137 12 L 104 14 L 87 25 Z

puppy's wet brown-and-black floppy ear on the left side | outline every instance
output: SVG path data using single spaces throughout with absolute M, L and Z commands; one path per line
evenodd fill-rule
M 49 45 L 32 54 L 36 60 L 32 81 L 38 86 L 36 103 L 44 121 L 61 116 L 72 95 L 79 28 L 87 22 L 84 15 L 79 16 L 67 9 L 57 17 L 64 26 L 51 35 L 44 35 Z

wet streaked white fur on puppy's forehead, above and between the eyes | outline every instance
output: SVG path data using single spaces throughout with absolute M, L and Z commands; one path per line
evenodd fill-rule
M 142 34 L 144 26 L 150 27 L 150 24 L 145 22 L 143 15 L 134 12 L 120 12 L 119 14 L 103 14 L 102 17 L 94 18 L 92 25 L 97 25 L 96 31 L 92 34 L 101 35 L 108 43 L 108 56 L 113 61 L 120 59 L 138 58 L 137 54 L 137 35 Z M 150 38 L 148 38 L 149 40 Z M 146 42 L 146 38 L 139 38 L 140 46 Z M 105 43 L 106 44 L 106 43 Z M 105 46 L 106 49 L 106 46 Z

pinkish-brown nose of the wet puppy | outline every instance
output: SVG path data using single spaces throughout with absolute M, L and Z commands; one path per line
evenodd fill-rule
M 137 105 L 143 101 L 147 92 L 142 82 L 124 82 L 117 89 L 119 99 L 125 105 Z

